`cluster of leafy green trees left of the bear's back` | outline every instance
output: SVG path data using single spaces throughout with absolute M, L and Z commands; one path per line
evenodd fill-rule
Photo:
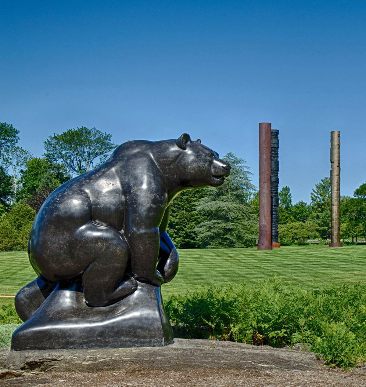
M 0 251 L 27 250 L 29 233 L 44 200 L 72 176 L 103 163 L 117 146 L 96 128 L 73 128 L 44 141 L 34 157 L 18 146 L 20 131 L 0 123 Z

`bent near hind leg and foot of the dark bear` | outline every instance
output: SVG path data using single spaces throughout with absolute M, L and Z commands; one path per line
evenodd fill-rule
M 79 240 L 80 237 L 87 242 L 83 254 L 89 254 L 92 261 L 82 276 L 87 305 L 110 305 L 137 289 L 137 282 L 125 272 L 129 259 L 128 245 L 116 230 L 90 223 L 78 231 Z

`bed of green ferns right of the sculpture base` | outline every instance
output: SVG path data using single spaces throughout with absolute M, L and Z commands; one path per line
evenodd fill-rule
M 176 337 L 283 347 L 308 344 L 329 365 L 366 358 L 366 285 L 305 290 L 277 277 L 259 285 L 214 287 L 165 303 Z

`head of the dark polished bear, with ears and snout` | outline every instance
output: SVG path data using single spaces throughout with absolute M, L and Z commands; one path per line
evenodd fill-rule
M 184 133 L 175 144 L 179 148 L 176 168 L 181 187 L 218 187 L 230 175 L 230 164 L 201 144 L 201 140 L 191 141 L 191 137 Z

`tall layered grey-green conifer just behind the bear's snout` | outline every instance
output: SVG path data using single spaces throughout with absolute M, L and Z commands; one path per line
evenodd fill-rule
M 249 204 L 255 188 L 252 173 L 233 153 L 223 159 L 231 164 L 231 173 L 220 187 L 207 188 L 197 202 L 197 212 L 204 218 L 195 228 L 197 240 L 209 248 L 252 246 L 257 237 L 257 217 Z

